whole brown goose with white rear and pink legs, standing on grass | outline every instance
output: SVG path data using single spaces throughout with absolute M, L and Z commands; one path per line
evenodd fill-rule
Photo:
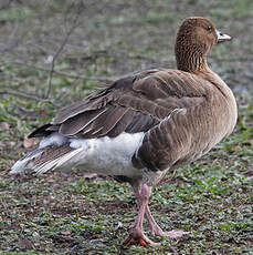
M 123 76 L 61 110 L 29 135 L 43 139 L 10 173 L 77 167 L 129 183 L 138 214 L 124 245 L 158 244 L 144 234 L 144 217 L 152 235 L 187 234 L 162 231 L 148 201 L 166 173 L 198 160 L 233 131 L 234 95 L 207 62 L 213 45 L 230 40 L 205 18 L 185 19 L 175 44 L 177 70 L 157 68 Z

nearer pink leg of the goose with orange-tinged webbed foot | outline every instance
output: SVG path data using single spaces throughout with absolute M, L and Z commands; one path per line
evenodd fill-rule
M 123 244 L 127 246 L 136 243 L 143 246 L 146 246 L 148 244 L 158 245 L 157 243 L 154 243 L 144 234 L 144 227 L 143 227 L 144 215 L 145 215 L 146 207 L 148 205 L 149 196 L 151 194 L 151 187 L 148 186 L 147 184 L 143 184 L 140 192 L 136 191 L 135 194 L 138 201 L 139 212 L 138 212 L 137 221 L 134 227 L 131 228 L 128 238 L 126 238 Z

